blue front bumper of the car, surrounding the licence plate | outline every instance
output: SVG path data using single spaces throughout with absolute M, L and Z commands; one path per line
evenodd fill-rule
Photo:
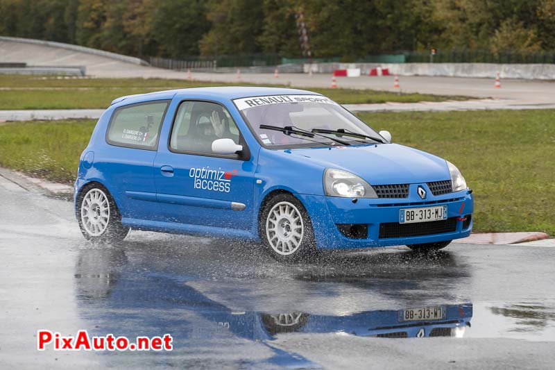
M 411 194 L 416 193 L 411 192 Z M 358 199 L 356 203 L 350 198 L 336 196 L 296 195 L 309 212 L 316 246 L 320 249 L 353 249 L 444 242 L 467 237 L 472 231 L 474 201 L 471 190 L 461 190 L 441 196 L 430 195 L 425 200 L 413 195 L 406 199 Z M 384 233 L 384 225 L 380 235 L 380 224 L 388 224 L 393 228 L 400 226 L 398 225 L 399 212 L 402 208 L 434 205 L 447 205 L 447 219 L 450 220 L 450 227 L 435 228 L 429 222 L 412 224 L 409 234 L 425 233 L 426 235 L 391 237 Z M 346 237 L 338 227 L 338 225 L 344 224 L 364 225 L 368 229 L 368 233 L 365 233 L 365 237 L 357 239 Z

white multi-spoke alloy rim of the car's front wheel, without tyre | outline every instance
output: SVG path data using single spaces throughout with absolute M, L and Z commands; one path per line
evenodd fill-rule
M 276 253 L 295 253 L 304 234 L 302 216 L 295 205 L 282 201 L 272 207 L 266 218 L 266 238 Z

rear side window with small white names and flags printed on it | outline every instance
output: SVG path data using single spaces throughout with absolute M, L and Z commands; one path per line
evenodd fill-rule
M 117 108 L 110 119 L 108 144 L 155 150 L 169 101 L 149 101 Z

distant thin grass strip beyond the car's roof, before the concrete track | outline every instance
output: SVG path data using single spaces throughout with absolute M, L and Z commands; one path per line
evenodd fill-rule
M 0 109 L 106 108 L 119 96 L 186 87 L 238 85 L 161 78 L 53 78 L 0 75 Z M 242 83 L 239 85 L 249 85 Z M 267 86 L 267 85 L 266 85 Z M 278 85 L 275 85 L 278 86 Z M 307 88 L 343 104 L 466 100 L 466 96 L 397 94 L 375 90 Z

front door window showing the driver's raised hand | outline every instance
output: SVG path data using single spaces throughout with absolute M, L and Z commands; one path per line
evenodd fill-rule
M 222 138 L 239 144 L 239 128 L 227 109 L 206 101 L 180 104 L 171 130 L 171 149 L 212 154 L 212 142 Z

